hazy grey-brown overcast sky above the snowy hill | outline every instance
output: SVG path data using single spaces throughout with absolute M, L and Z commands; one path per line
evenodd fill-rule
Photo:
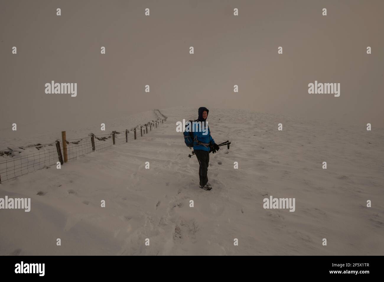
M 2 0 L 0 128 L 178 105 L 384 127 L 383 10 L 384 1 Z M 77 96 L 46 94 L 52 80 L 76 82 Z M 308 94 L 315 80 L 340 83 L 340 97 Z

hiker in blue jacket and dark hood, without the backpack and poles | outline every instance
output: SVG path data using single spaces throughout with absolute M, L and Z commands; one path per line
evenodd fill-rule
M 201 122 L 202 128 L 200 129 L 200 123 L 196 126 L 195 132 L 193 132 L 194 140 L 194 152 L 199 161 L 199 178 L 200 178 L 200 188 L 204 190 L 211 190 L 212 186 L 208 183 L 208 166 L 209 166 L 209 153 L 212 150 L 215 153 L 220 147 L 217 146 L 214 139 L 211 136 L 206 120 L 208 117 L 209 110 L 206 107 L 199 108 L 199 118 L 197 119 Z M 207 130 L 208 129 L 208 130 Z M 205 133 L 205 134 L 203 134 Z M 196 145 L 195 145 L 196 144 Z

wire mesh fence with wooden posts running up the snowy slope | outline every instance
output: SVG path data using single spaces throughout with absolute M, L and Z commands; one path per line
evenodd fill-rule
M 137 125 L 133 130 L 113 131 L 104 135 L 89 134 L 89 136 L 80 139 L 68 140 L 64 138 L 44 145 L 37 144 L 0 150 L 0 183 L 35 170 L 50 168 L 52 165 L 63 165 L 80 156 L 94 151 L 106 150 L 113 145 L 137 140 L 151 130 L 157 129 L 167 120 L 167 117 L 161 114 L 158 109 L 155 109 L 154 113 L 157 116 L 156 120 L 144 125 Z M 66 136 L 65 132 L 63 136 Z M 1 157 L 5 160 L 1 160 Z

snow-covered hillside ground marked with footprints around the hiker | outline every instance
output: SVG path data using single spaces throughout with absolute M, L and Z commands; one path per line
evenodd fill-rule
M 197 109 L 160 110 L 167 122 L 138 140 L 2 183 L 0 198 L 31 198 L 31 211 L 0 210 L 0 255 L 384 253 L 383 129 L 209 108 L 212 137 L 232 144 L 210 154 L 213 189 L 204 191 L 175 131 Z M 5 148 L 26 145 L 12 141 Z M 295 211 L 264 209 L 269 196 L 295 198 Z

